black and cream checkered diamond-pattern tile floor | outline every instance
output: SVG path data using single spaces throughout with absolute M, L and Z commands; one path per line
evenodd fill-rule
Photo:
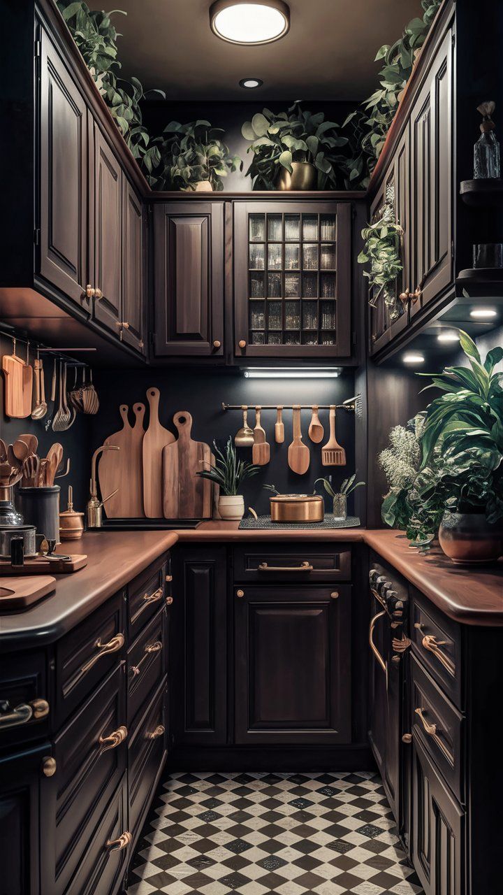
M 132 858 L 128 895 L 413 895 L 371 773 L 175 773 Z

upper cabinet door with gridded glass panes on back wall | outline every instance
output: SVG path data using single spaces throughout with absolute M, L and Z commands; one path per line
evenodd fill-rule
M 237 357 L 351 354 L 351 205 L 234 205 Z

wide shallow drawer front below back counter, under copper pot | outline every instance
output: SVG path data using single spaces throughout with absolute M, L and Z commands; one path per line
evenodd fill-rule
M 253 544 L 234 549 L 234 581 L 331 584 L 351 579 L 351 550 L 323 544 Z

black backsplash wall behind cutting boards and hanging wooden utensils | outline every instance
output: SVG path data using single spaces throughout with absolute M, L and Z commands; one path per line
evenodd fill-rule
M 341 404 L 354 395 L 353 372 L 345 373 L 340 379 L 244 379 L 243 374 L 218 371 L 96 371 L 95 384 L 100 396 L 100 409 L 91 421 L 90 449 L 103 444 L 104 439 L 122 428 L 119 405 L 131 408 L 137 401 L 147 407 L 144 425 L 148 425 L 148 402 L 146 392 L 155 386 L 160 390 L 159 418 L 167 429 L 176 430 L 173 416 L 176 411 L 192 413 L 192 439 L 206 441 L 211 445 L 217 439 L 223 447 L 229 435 L 234 437 L 241 427 L 243 414 L 239 411 L 221 409 L 226 404 Z M 311 448 L 311 465 L 303 476 L 292 473 L 287 464 L 288 445 L 292 441 L 292 412 L 284 411 L 285 442 L 277 445 L 274 441 L 276 411 L 263 411 L 261 423 L 266 430 L 271 448 L 271 459 L 267 466 L 255 477 L 245 482 L 243 494 L 246 507 L 252 506 L 258 513 L 269 512 L 269 492 L 262 490 L 264 483 L 274 484 L 282 492 L 310 493 L 314 490 L 314 480 L 332 473 L 334 484 L 340 484 L 346 475 L 354 472 L 354 413 L 337 413 L 337 439 L 345 447 L 347 465 L 345 467 L 324 467 L 321 465 L 321 447 L 328 439 L 328 410 L 320 411 L 320 419 L 325 427 L 325 438 L 321 445 L 314 445 L 307 430 L 311 421 L 311 411 L 303 411 L 303 441 Z M 134 420 L 131 416 L 131 422 Z M 248 422 L 253 427 L 255 413 L 248 413 Z M 252 448 L 238 452 L 243 459 L 252 460 Z M 362 478 L 364 473 L 362 471 Z M 320 486 L 318 486 L 320 488 Z M 352 505 L 350 504 L 350 508 Z M 327 510 L 328 499 L 326 504 Z

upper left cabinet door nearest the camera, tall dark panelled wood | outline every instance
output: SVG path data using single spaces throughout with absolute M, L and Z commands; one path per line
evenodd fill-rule
M 72 301 L 85 304 L 86 104 L 44 30 L 40 91 L 40 273 Z

